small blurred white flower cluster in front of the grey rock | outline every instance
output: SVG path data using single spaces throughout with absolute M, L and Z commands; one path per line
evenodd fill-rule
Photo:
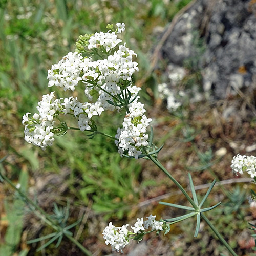
M 158 84 L 158 92 L 161 99 L 167 100 L 167 110 L 176 111 L 181 106 L 181 103 L 176 100 L 174 93 L 170 91 L 166 83 Z

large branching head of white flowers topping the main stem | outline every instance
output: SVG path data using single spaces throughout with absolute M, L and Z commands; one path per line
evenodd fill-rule
M 77 124 L 81 131 L 91 130 L 94 115 L 99 116 L 105 110 L 120 110 L 120 106 L 124 105 L 119 102 L 124 104 L 121 100 L 127 102 L 129 98 L 132 103 L 124 106 L 127 112 L 123 127 L 117 132 L 116 145 L 121 155 L 127 152 L 129 156 L 139 157 L 141 147 L 148 145 L 146 130 L 152 119 L 146 117 L 144 105 L 137 101 L 140 88 L 131 86 L 132 75 L 138 71 L 138 63 L 133 61 L 133 56 L 137 55 L 125 44 L 119 45 L 115 51 L 121 42 L 117 34 L 125 30 L 124 23 L 117 23 L 116 26 L 116 32 L 79 37 L 83 40 L 82 44 L 87 45 L 89 57 L 70 52 L 48 70 L 49 87 L 74 91 L 80 82 L 85 86 L 84 94 L 89 101 L 95 101 L 81 103 L 74 97 L 53 101 L 53 93 L 44 95 L 38 103 L 39 115 L 35 114 L 33 118 L 29 118 L 28 114 L 24 116 L 26 141 L 45 150 L 54 141 L 54 133 L 57 134 L 54 117 L 71 114 L 78 118 Z

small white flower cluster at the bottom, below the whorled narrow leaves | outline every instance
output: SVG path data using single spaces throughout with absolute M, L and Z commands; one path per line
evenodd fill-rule
M 123 248 L 129 244 L 131 239 L 130 236 L 135 234 L 143 233 L 144 230 L 149 229 L 151 227 L 151 231 L 160 230 L 163 231 L 162 221 L 156 221 L 156 216 L 148 216 L 147 220 L 143 222 L 143 218 L 137 219 L 137 222 L 132 226 L 133 232 L 127 229 L 129 224 L 123 225 L 122 227 L 115 227 L 112 222 L 109 223 L 109 226 L 106 226 L 103 231 L 103 238 L 106 240 L 105 243 L 110 244 L 113 251 L 121 251 L 123 253 Z

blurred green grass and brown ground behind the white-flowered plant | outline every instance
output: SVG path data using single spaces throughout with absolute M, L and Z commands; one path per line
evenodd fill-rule
M 175 172 L 174 176 L 185 187 L 188 170 L 195 172 L 196 185 L 209 183 L 214 178 L 233 178 L 229 168 L 233 152 L 220 136 L 225 129 L 232 130 L 232 123 L 218 126 L 208 102 L 186 104 L 187 115 L 181 121 L 170 115 L 157 99 L 155 88 L 163 80 L 161 73 L 144 77 L 150 68 L 152 49 L 165 26 L 189 2 L 0 0 L 0 158 L 7 156 L 0 163 L 0 171 L 19 183 L 30 197 L 36 197 L 47 212 L 52 212 L 54 202 L 65 206 L 70 201 L 70 223 L 85 214 L 73 232 L 94 255 L 111 253 L 101 235 L 109 221 L 123 225 L 148 212 L 157 214 L 157 218 L 179 215 L 173 209 L 158 205 L 159 200 L 154 198 L 163 196 L 176 203 L 182 199 L 159 170 L 146 160 L 122 159 L 111 140 L 99 136 L 87 140 L 83 133 L 75 131 L 57 138 L 46 151 L 26 143 L 22 116 L 35 111 L 43 94 L 55 90 L 57 96 L 63 95 L 61 90 L 47 87 L 47 70 L 62 56 L 74 51 L 75 40 L 80 34 L 106 31 L 108 23 L 124 22 L 126 31 L 122 39 L 138 54 L 140 72 L 135 80 L 138 83 L 142 79 L 146 81 L 141 84 L 141 98 L 148 116 L 154 118 L 155 140 L 159 145 L 166 141 L 160 155 L 164 165 Z M 193 83 L 195 77 L 200 79 L 198 72 L 191 70 L 185 86 Z M 82 88 L 79 93 L 83 93 Z M 117 114 L 104 113 L 97 120 L 98 127 L 114 135 L 120 120 Z M 247 124 L 248 132 L 254 129 L 255 120 Z M 230 132 L 229 139 L 236 136 L 236 131 L 232 131 L 234 134 Z M 215 154 L 220 148 L 226 148 L 224 155 Z M 217 187 L 209 200 L 209 205 L 223 200 L 222 207 L 210 218 L 239 255 L 254 255 L 250 246 L 247 248 L 243 242 L 250 240 L 248 221 L 256 216 L 255 209 L 250 209 L 247 203 L 248 195 L 242 193 L 249 188 L 246 183 L 225 185 L 224 192 Z M 168 194 L 172 191 L 174 195 Z M 148 246 L 159 248 L 157 255 L 219 255 L 225 252 L 223 246 L 213 240 L 214 236 L 206 234 L 203 226 L 199 238 L 194 240 L 193 229 L 190 222 L 174 225 L 165 238 L 148 236 L 152 241 Z M 57 249 L 52 245 L 41 252 L 35 252 L 40 243 L 26 244 L 27 240 L 50 232 L 52 230 L 44 223 L 24 210 L 24 203 L 8 185 L 0 184 L 0 256 L 82 255 L 68 240 L 63 240 Z M 170 248 L 173 254 L 165 252 Z M 190 254 L 185 254 L 188 249 Z M 198 254 L 193 254 L 195 251 Z

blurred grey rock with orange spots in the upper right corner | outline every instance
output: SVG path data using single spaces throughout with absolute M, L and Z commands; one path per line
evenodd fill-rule
M 202 74 L 204 91 L 226 98 L 256 88 L 256 1 L 197 0 L 178 18 L 161 55 Z M 172 71 L 170 71 L 172 74 Z

